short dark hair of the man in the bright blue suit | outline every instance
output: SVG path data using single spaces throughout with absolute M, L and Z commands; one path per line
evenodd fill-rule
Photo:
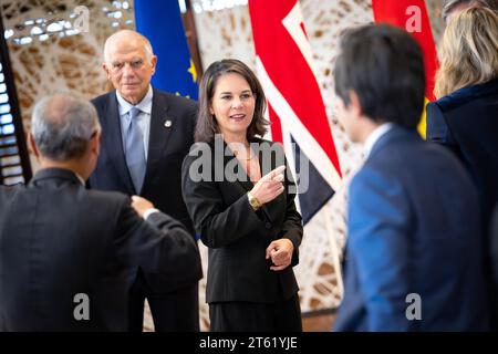
M 387 24 L 369 24 L 341 39 L 334 70 L 335 93 L 350 104 L 359 96 L 362 112 L 375 122 L 415 128 L 425 96 L 422 49 L 407 32 Z

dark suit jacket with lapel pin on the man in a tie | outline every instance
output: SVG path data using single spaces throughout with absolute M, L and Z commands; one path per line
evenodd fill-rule
M 110 92 L 92 101 L 95 105 L 102 125 L 102 148 L 95 171 L 90 176 L 89 184 L 93 189 L 117 190 L 128 196 L 139 195 L 151 200 L 160 211 L 180 220 L 194 238 L 194 227 L 188 211 L 181 198 L 181 163 L 188 149 L 194 143 L 194 128 L 197 114 L 197 103 L 180 96 L 160 92 L 154 88 L 153 105 L 151 112 L 151 135 L 148 144 L 148 158 L 142 190 L 135 190 L 129 176 L 120 123 L 120 111 L 116 92 Z M 198 316 L 198 304 L 190 302 L 185 295 L 172 299 L 168 293 L 178 291 L 186 287 L 196 287 L 203 278 L 199 263 L 187 266 L 195 267 L 197 279 L 189 282 L 172 284 L 157 274 L 139 272 L 139 281 L 145 281 L 147 293 L 153 293 L 159 299 L 165 296 L 163 308 L 177 306 L 185 303 L 185 308 L 191 309 L 191 315 Z M 189 273 L 191 269 L 177 268 L 177 272 Z M 193 299 L 191 301 L 197 301 Z M 151 301 L 149 301 L 151 302 Z M 167 302 L 167 303 L 166 303 Z M 183 309 L 183 308 L 181 308 Z M 160 313 L 153 311 L 156 329 L 157 316 L 168 316 L 175 308 L 162 310 Z M 187 310 L 183 310 L 187 311 Z M 163 316 L 163 319 L 164 319 Z M 185 319 L 189 315 L 185 314 Z M 169 320 L 166 320 L 170 322 Z M 132 320 L 132 322 L 135 322 Z M 132 323 L 133 325 L 133 323 Z M 167 326 L 167 330 L 187 329 L 184 324 Z M 160 330 L 160 329 L 159 329 Z

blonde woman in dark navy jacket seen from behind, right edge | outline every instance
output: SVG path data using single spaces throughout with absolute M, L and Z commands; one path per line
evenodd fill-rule
M 485 229 L 498 201 L 498 12 L 470 8 L 445 30 L 427 139 L 452 149 L 479 192 Z

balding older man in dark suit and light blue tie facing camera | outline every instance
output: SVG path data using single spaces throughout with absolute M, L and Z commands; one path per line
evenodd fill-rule
M 149 199 L 194 228 L 181 198 L 181 163 L 194 143 L 197 104 L 151 86 L 157 58 L 142 34 L 123 30 L 104 46 L 103 67 L 115 91 L 93 100 L 102 124 L 102 154 L 89 185 Z M 147 299 L 156 331 L 198 331 L 199 264 L 178 268 L 196 277 L 170 283 L 138 269 L 131 290 L 131 331 L 142 331 Z

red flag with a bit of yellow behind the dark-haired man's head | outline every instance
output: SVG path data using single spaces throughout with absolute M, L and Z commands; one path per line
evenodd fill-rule
M 425 1 L 372 0 L 372 10 L 375 22 L 390 23 L 408 31 L 422 46 L 426 80 L 425 97 L 428 101 L 436 100 L 433 93 L 434 79 L 439 64 Z M 425 136 L 425 110 L 418 129 Z

